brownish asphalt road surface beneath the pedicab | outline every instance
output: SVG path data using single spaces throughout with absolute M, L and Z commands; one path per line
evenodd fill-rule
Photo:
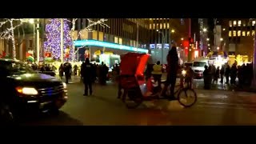
M 68 85 L 69 100 L 58 116 L 44 116 L 25 126 L 174 126 L 255 125 L 254 94 L 226 90 L 196 90 L 198 102 L 184 109 L 178 102 L 144 102 L 130 110 L 117 98 L 117 86 L 94 86 L 94 95 L 83 96 L 82 83 Z

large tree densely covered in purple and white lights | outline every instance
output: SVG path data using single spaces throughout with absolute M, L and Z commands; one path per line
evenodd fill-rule
M 70 36 L 70 26 L 66 18 L 63 19 L 63 50 L 69 51 L 70 55 L 74 50 L 69 50 L 73 47 L 73 40 Z M 61 20 L 59 18 L 50 19 L 50 23 L 46 24 L 46 42 L 44 42 L 44 50 L 50 52 L 55 59 L 61 58 Z M 64 53 L 63 51 L 63 53 Z M 66 57 L 66 60 L 72 60 Z

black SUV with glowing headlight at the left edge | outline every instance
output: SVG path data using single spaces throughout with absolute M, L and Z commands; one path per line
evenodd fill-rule
M 0 120 L 14 122 L 22 114 L 54 112 L 66 103 L 66 83 L 39 74 L 23 62 L 0 59 Z

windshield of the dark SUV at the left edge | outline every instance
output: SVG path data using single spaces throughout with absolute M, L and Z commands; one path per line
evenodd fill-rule
M 1 61 L 0 66 L 1 70 L 6 70 L 6 72 L 9 74 L 35 73 L 30 66 L 22 62 Z

